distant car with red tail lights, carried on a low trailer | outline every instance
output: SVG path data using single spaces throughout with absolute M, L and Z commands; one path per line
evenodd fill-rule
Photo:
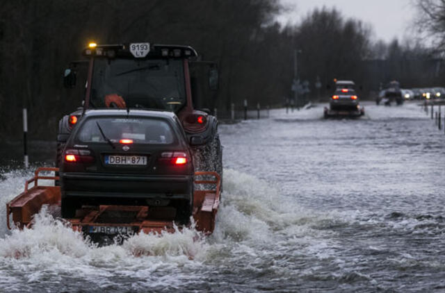
M 359 117 L 364 115 L 364 108 L 359 106 L 355 90 L 337 88 L 331 97 L 330 108 L 325 108 L 324 117 Z

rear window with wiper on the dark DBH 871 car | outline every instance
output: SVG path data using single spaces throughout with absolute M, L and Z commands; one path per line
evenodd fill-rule
M 101 133 L 103 132 L 103 135 Z M 172 144 L 175 133 L 163 119 L 135 117 L 95 117 L 82 124 L 76 139 L 80 142 L 133 140 L 135 144 Z

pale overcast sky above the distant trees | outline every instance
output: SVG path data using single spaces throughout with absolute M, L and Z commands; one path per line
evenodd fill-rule
M 410 35 L 410 24 L 416 9 L 412 0 L 281 0 L 291 10 L 280 17 L 281 22 L 300 22 L 309 11 L 323 5 L 335 6 L 344 16 L 355 17 L 373 26 L 374 38 L 391 41 L 403 40 Z

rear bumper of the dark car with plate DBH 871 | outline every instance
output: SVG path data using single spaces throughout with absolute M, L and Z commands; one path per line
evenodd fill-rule
M 192 175 L 60 174 L 62 196 L 191 199 Z

